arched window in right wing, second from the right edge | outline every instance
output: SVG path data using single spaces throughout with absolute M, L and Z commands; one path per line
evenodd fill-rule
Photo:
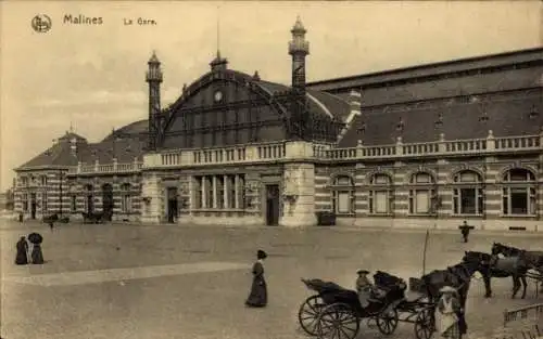
M 471 170 L 459 171 L 453 177 L 453 213 L 480 216 L 484 212 L 483 179 Z

